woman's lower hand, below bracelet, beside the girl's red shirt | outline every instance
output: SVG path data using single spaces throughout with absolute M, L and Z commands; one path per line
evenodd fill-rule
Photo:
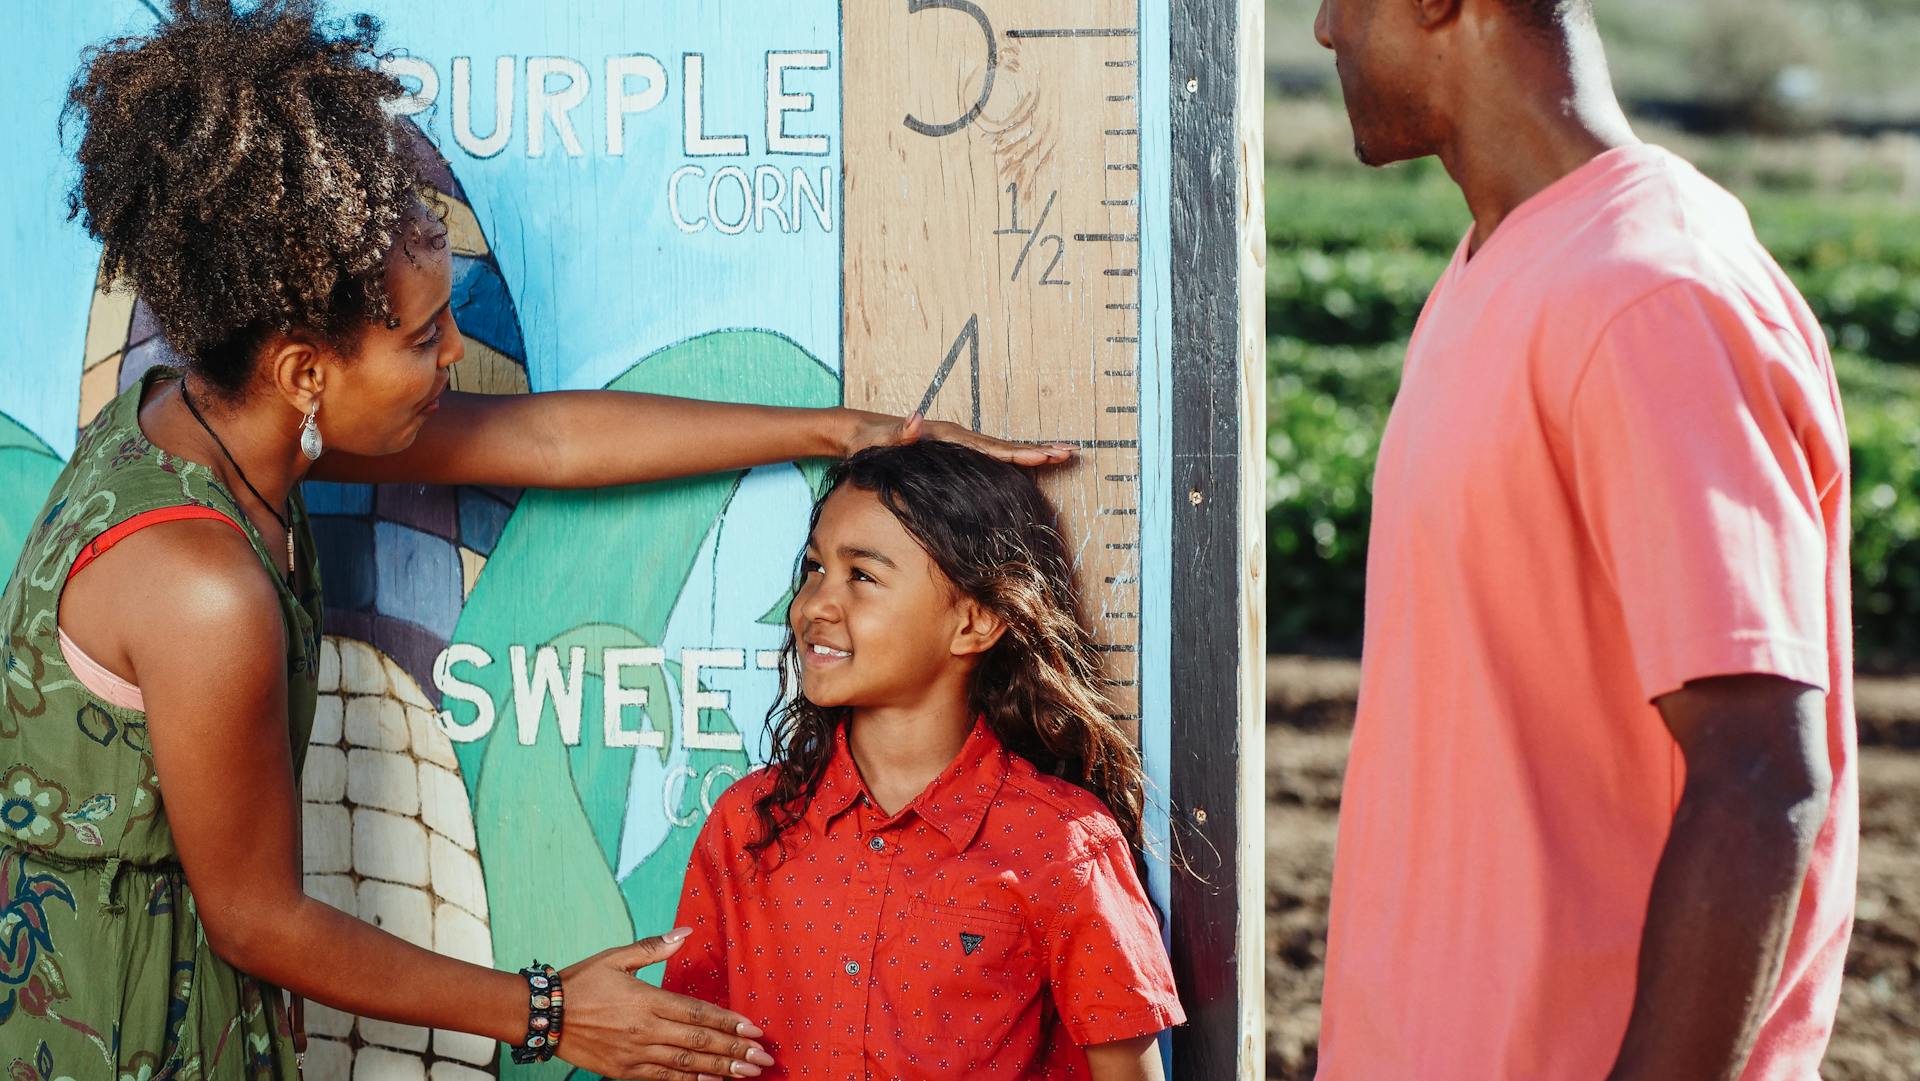
M 758 1077 L 774 1064 L 758 1025 L 634 977 L 680 950 L 685 927 L 597 952 L 561 973 L 566 1010 L 559 1056 L 603 1077 L 705 1081 Z

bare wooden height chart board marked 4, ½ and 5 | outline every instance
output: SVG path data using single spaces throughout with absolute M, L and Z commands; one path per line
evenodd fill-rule
M 1046 486 L 1137 722 L 1137 12 L 908 0 L 843 19 L 847 403 L 1081 447 Z

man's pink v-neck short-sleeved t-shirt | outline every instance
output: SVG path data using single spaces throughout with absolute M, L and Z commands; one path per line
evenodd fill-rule
M 1828 691 L 1834 795 L 1745 1081 L 1814 1081 L 1859 806 L 1847 436 L 1745 209 L 1651 146 L 1461 244 L 1380 444 L 1321 1081 L 1597 1081 L 1684 762 L 1651 699 Z

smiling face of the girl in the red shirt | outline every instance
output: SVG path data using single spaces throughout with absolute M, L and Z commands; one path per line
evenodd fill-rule
M 851 484 L 820 509 L 787 609 L 801 689 L 818 707 L 966 695 L 998 620 L 962 595 L 879 497 Z

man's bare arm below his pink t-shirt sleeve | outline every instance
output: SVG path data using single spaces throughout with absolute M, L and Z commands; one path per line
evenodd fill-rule
M 1824 695 L 1778 676 L 1697 680 L 1653 703 L 1686 758 L 1607 1081 L 1736 1081 L 1780 983 L 1832 768 Z

